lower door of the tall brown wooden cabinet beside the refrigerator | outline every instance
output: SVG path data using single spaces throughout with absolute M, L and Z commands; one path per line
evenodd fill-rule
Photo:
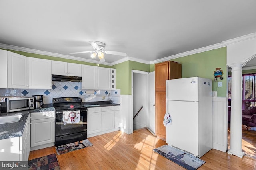
M 156 92 L 156 135 L 166 140 L 166 127 L 163 124 L 166 113 L 166 92 Z

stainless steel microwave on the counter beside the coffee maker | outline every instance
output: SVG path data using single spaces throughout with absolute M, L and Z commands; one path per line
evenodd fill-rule
M 0 96 L 0 112 L 10 113 L 14 111 L 23 111 L 34 109 L 34 97 L 23 96 Z

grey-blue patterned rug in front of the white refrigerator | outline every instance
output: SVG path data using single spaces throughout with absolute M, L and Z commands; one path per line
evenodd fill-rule
M 187 170 L 196 170 L 205 162 L 195 156 L 175 149 L 174 147 L 163 145 L 162 147 L 153 149 L 156 153 L 164 156 L 172 162 L 186 168 Z

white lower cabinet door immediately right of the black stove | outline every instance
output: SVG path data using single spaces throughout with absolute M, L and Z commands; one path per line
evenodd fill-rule
M 97 133 L 102 131 L 101 112 L 87 113 L 87 134 Z

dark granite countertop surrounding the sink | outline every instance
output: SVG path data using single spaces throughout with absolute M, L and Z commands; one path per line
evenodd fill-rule
M 0 113 L 0 116 L 24 115 L 20 121 L 0 124 L 0 140 L 22 136 L 29 111 L 17 111 L 13 113 Z

